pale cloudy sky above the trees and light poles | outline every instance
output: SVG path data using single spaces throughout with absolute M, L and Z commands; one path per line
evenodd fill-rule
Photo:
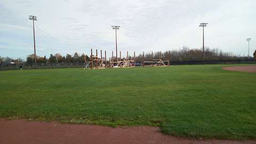
M 49 57 L 94 50 L 136 54 L 142 51 L 179 50 L 182 46 L 219 48 L 250 55 L 256 50 L 255 0 L 44 0 L 0 1 L 0 56 L 23 58 L 34 53 L 35 21 L 37 55 Z

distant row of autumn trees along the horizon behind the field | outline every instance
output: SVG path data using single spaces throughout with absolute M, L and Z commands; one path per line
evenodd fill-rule
M 49 58 L 39 57 L 36 55 L 37 63 L 39 64 L 46 64 L 46 63 L 73 63 L 75 65 L 83 65 L 86 61 L 90 61 L 91 55 L 85 55 L 82 53 L 79 55 L 75 52 L 73 55 L 66 54 L 61 55 L 60 53 L 50 54 Z M 203 51 L 201 49 L 189 49 L 188 47 L 183 46 L 180 50 L 170 50 L 164 52 L 145 52 L 144 59 L 143 54 L 139 54 L 135 56 L 135 60 L 137 62 L 150 61 L 151 59 L 162 59 L 162 60 L 170 60 L 170 61 L 198 61 L 202 60 Z M 256 59 L 256 50 L 253 53 L 254 59 Z M 26 60 L 23 59 L 12 59 L 9 57 L 1 57 L 0 56 L 0 63 L 27 63 L 28 65 L 33 65 L 34 61 L 34 54 L 30 54 L 27 56 Z M 115 59 L 115 57 L 110 58 Z M 118 57 L 119 59 L 119 57 Z M 125 58 L 122 58 L 125 59 Z M 133 56 L 129 56 L 129 59 L 134 59 Z M 220 49 L 210 49 L 209 47 L 205 48 L 205 60 L 241 60 L 247 59 L 247 56 L 241 57 L 240 55 L 235 55 L 232 52 L 223 52 Z M 253 59 L 253 57 L 251 57 Z

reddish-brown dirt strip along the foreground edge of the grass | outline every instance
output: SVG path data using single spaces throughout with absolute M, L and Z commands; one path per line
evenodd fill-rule
M 256 141 L 195 140 L 162 134 L 158 127 L 106 127 L 57 122 L 0 119 L 0 143 L 256 143 Z

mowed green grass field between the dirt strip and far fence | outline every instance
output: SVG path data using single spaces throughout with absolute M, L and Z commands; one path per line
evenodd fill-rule
M 223 66 L 0 71 L 0 117 L 255 139 L 256 74 Z

